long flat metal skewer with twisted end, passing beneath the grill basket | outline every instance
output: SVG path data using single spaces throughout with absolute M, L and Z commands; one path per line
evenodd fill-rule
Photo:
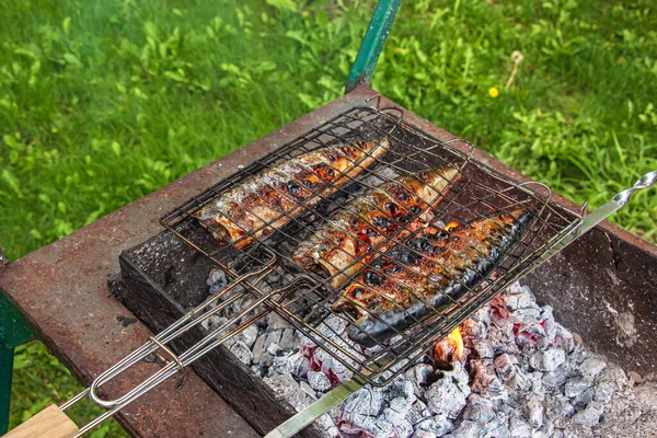
M 657 171 L 647 173 L 646 175 L 641 177 L 636 182 L 636 184 L 634 184 L 634 186 L 624 189 L 623 192 L 615 195 L 609 201 L 603 204 L 600 208 L 596 209 L 586 218 L 584 218 L 581 223 L 578 227 L 576 227 L 573 231 L 564 235 L 557 242 L 555 242 L 549 251 L 544 252 L 530 266 L 528 266 L 521 275 L 525 276 L 526 274 L 529 274 L 531 270 L 545 263 L 545 261 L 548 261 L 554 254 L 565 249 L 567 245 L 573 243 L 573 241 L 580 238 L 591 228 L 596 227 L 609 216 L 613 215 L 615 211 L 624 207 L 630 201 L 630 198 L 636 191 L 639 191 L 642 188 L 648 188 L 653 186 L 655 182 L 657 182 Z M 346 382 L 343 382 L 339 387 L 336 387 L 323 397 L 312 403 L 303 411 L 300 411 L 287 422 L 283 423 L 277 428 L 268 433 L 265 436 L 265 438 L 289 438 L 295 434 L 298 434 L 304 427 L 307 427 L 312 422 L 327 413 L 333 406 L 345 401 L 349 395 L 358 391 L 364 385 L 365 382 L 359 377 L 355 377 Z

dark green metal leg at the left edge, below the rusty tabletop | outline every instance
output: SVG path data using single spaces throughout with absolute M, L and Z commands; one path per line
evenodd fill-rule
M 0 435 L 9 426 L 11 376 L 14 348 L 32 339 L 32 330 L 25 316 L 0 291 Z

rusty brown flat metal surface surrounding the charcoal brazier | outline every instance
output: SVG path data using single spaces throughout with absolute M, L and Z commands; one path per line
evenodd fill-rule
M 163 212 L 228 176 L 238 165 L 263 157 L 304 132 L 309 126 L 316 126 L 346 108 L 374 105 L 377 100 L 371 97 L 376 95 L 369 88 L 360 87 L 71 235 L 28 254 L 0 270 L 0 288 L 25 312 L 48 347 L 81 381 L 90 382 L 149 335 L 139 322 L 124 326 L 119 320 L 132 315 L 108 293 L 106 280 L 118 272 L 119 252 L 159 232 L 158 219 Z M 382 106 L 392 104 L 384 97 L 380 103 Z M 435 137 L 442 140 L 456 138 L 427 120 L 407 114 L 407 120 Z M 528 181 L 484 152 L 476 151 L 475 157 L 517 181 Z M 577 207 L 558 196 L 556 201 L 570 209 Z M 625 242 L 630 247 L 629 254 L 634 251 L 648 254 L 652 260 L 657 257 L 655 246 L 609 222 L 598 229 L 613 241 Z M 150 367 L 143 365 L 130 374 L 135 378 Z M 139 437 L 227 436 L 228 431 L 234 437 L 255 436 L 195 376 L 189 377 L 182 390 L 175 389 L 174 383 L 165 383 L 127 408 L 119 416 L 120 423 Z

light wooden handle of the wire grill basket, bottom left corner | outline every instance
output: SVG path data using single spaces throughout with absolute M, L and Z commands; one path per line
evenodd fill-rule
M 77 433 L 78 426 L 51 404 L 2 438 L 71 438 Z

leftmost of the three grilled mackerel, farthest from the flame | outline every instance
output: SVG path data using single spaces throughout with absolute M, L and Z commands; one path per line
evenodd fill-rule
M 318 149 L 250 176 L 194 216 L 219 243 L 243 249 L 334 193 L 389 149 L 385 139 Z

